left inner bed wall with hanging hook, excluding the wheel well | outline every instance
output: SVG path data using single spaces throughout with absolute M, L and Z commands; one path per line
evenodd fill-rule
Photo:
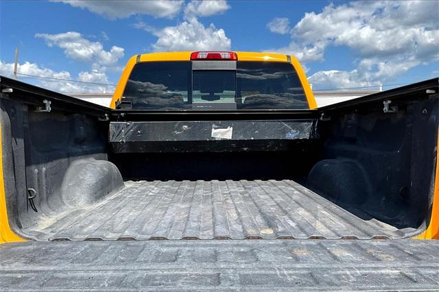
M 10 224 L 16 232 L 62 206 L 61 187 L 75 160 L 107 160 L 106 129 L 95 117 L 1 99 L 3 173 Z M 28 189 L 36 191 L 32 210 Z

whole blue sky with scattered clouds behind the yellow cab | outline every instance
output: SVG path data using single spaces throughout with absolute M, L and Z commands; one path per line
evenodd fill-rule
M 138 53 L 208 49 L 292 54 L 315 89 L 439 75 L 438 1 L 1 1 L 0 10 L 1 75 L 12 75 L 16 46 L 21 73 L 100 84 L 117 83 Z

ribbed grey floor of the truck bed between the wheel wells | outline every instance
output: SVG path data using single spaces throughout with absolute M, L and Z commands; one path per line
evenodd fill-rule
M 130 181 L 102 202 L 52 213 L 23 232 L 38 240 L 71 241 L 404 236 L 359 216 L 292 180 Z

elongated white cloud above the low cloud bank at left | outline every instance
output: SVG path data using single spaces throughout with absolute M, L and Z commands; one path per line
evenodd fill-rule
M 110 51 L 104 50 L 100 42 L 91 42 L 78 32 L 63 34 L 36 34 L 36 38 L 43 38 L 49 47 L 60 47 L 72 60 L 93 62 L 102 66 L 112 66 L 123 58 L 124 49 L 112 46 Z

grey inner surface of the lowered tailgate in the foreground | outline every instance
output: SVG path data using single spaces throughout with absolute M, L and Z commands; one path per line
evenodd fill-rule
M 439 289 L 439 241 L 36 242 L 0 245 L 2 291 Z

